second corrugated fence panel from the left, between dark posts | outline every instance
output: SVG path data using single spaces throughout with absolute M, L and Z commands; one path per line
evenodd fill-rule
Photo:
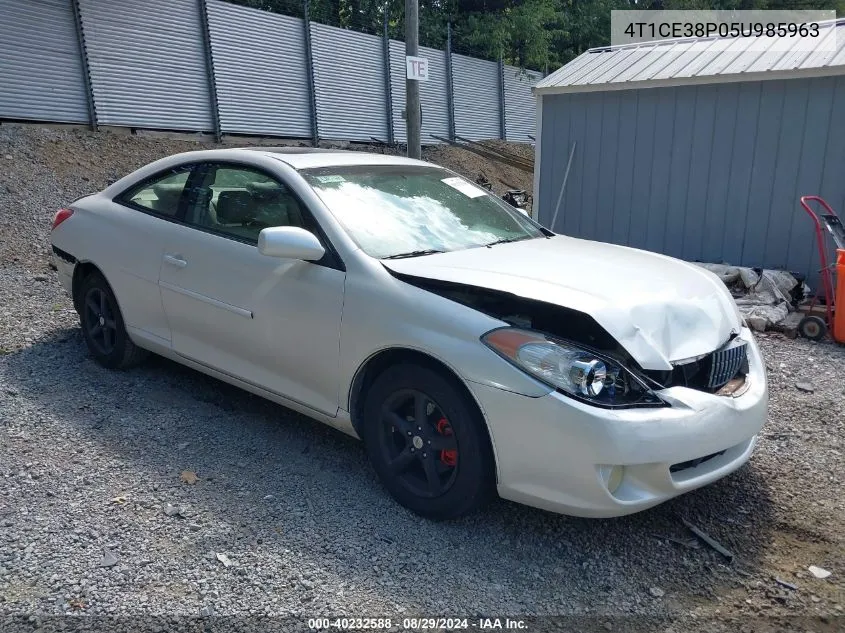
M 104 125 L 211 130 L 196 0 L 80 0 Z

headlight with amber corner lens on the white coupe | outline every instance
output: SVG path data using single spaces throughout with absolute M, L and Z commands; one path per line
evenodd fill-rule
M 618 361 L 568 341 L 501 328 L 481 341 L 524 372 L 578 400 L 602 407 L 660 407 L 665 403 Z

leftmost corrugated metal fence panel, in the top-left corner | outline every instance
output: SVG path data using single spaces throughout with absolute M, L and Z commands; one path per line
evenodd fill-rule
M 70 0 L 0 0 L 0 117 L 88 122 Z

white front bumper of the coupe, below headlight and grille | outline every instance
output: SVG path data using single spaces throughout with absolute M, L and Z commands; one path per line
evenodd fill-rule
M 742 337 L 749 341 L 749 385 L 738 397 L 672 387 L 659 392 L 669 407 L 613 410 L 557 392 L 531 398 L 470 383 L 493 439 L 499 495 L 564 514 L 612 517 L 733 472 L 750 458 L 768 405 L 760 350 L 749 330 Z M 624 469 L 611 493 L 613 466 Z

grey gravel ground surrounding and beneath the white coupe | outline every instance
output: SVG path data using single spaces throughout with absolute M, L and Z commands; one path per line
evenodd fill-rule
M 0 616 L 274 615 L 292 626 L 338 614 L 566 615 L 554 623 L 568 630 L 845 628 L 845 348 L 832 343 L 761 336 L 771 412 L 750 464 L 603 521 L 504 501 L 457 522 L 420 520 L 340 433 L 160 358 L 127 372 L 89 360 L 46 265 L 49 218 L 196 146 L 0 126 Z M 804 381 L 812 392 L 796 388 Z M 183 482 L 183 471 L 198 481 Z M 691 541 L 682 518 L 733 562 Z M 817 579 L 809 565 L 832 575 Z

